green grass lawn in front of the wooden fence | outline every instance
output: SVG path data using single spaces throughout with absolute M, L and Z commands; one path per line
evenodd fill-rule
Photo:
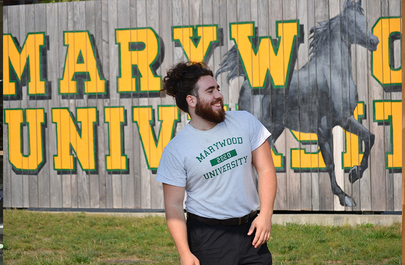
M 274 264 L 401 264 L 401 224 L 273 225 Z M 5 264 L 180 264 L 163 217 L 4 210 Z

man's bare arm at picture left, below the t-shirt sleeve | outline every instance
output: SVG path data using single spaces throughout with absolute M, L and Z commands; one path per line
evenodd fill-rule
M 166 222 L 179 252 L 181 264 L 199 265 L 198 259 L 191 253 L 188 246 L 187 227 L 183 210 L 184 191 L 185 187 L 163 183 Z

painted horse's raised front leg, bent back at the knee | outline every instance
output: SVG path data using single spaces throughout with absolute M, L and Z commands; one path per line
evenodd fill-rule
M 375 135 L 354 119 L 353 115 L 343 129 L 357 135 L 364 142 L 364 153 L 360 162 L 360 167 L 354 166 L 349 175 L 350 183 L 354 183 L 356 180 L 361 179 L 364 171 L 369 167 L 369 155 L 371 147 L 374 145 Z

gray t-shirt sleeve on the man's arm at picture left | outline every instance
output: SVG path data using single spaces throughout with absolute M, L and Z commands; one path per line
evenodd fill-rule
M 166 148 L 161 155 L 155 180 L 177 187 L 186 186 L 187 174 L 183 164 Z

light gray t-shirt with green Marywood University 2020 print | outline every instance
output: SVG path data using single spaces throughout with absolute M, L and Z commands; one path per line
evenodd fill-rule
M 226 112 L 208 131 L 187 124 L 165 147 L 156 180 L 185 187 L 186 210 L 215 219 L 242 217 L 260 206 L 252 151 L 270 132 L 246 111 Z

